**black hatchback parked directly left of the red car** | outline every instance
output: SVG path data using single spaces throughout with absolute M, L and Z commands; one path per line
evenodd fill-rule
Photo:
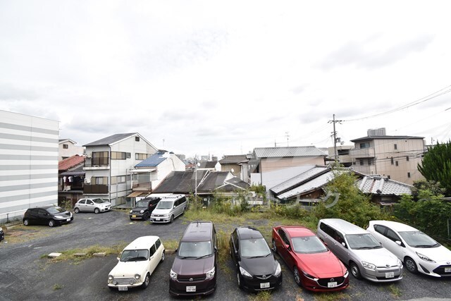
M 282 269 L 263 235 L 253 227 L 238 227 L 230 235 L 230 256 L 240 288 L 257 292 L 282 285 Z

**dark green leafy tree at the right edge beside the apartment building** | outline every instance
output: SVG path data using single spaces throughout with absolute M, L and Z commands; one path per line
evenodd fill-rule
M 445 195 L 451 195 L 451 141 L 433 147 L 428 147 L 424 154 L 421 165 L 418 164 L 419 172 L 426 180 L 433 180 L 443 185 L 446 189 Z

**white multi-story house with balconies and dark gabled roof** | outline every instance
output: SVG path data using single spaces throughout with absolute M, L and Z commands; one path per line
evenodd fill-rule
M 132 192 L 130 170 L 157 151 L 139 133 L 111 135 L 84 147 L 83 195 L 109 199 L 113 206 L 124 204 Z

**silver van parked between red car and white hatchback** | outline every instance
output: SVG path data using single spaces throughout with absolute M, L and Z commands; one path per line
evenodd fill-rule
M 350 266 L 355 278 L 373 282 L 402 279 L 402 262 L 368 231 L 342 219 L 321 219 L 317 233 L 328 248 Z

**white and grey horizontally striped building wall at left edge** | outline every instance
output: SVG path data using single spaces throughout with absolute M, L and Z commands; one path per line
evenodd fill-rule
M 58 203 L 59 122 L 0 111 L 0 222 Z

